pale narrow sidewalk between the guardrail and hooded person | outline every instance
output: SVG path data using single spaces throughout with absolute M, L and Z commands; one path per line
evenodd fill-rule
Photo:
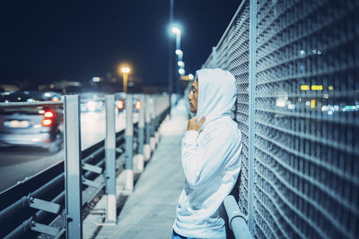
M 171 238 L 184 175 L 180 142 L 187 128 L 185 102 L 180 100 L 160 128 L 161 140 L 127 198 L 116 226 L 102 226 L 96 238 Z

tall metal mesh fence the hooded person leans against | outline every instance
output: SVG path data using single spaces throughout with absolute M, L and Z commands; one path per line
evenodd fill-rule
M 359 237 L 358 12 L 241 1 L 203 65 L 237 80 L 238 205 L 256 238 Z

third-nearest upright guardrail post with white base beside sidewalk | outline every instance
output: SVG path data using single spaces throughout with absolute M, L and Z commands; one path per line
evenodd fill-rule
M 132 192 L 134 190 L 134 122 L 133 122 L 133 96 L 127 94 L 126 97 L 126 129 L 125 129 L 125 174 L 126 187 L 125 191 Z

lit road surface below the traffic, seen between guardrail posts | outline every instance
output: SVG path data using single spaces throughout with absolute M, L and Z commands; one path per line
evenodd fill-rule
M 125 128 L 126 114 L 116 115 L 116 131 L 118 132 Z M 98 113 L 81 114 L 82 149 L 87 149 L 105 138 L 105 119 L 104 110 Z M 134 121 L 138 121 L 138 114 L 134 115 Z M 0 192 L 63 160 L 64 155 L 64 149 L 56 154 L 50 154 L 46 149 L 31 147 L 0 149 Z

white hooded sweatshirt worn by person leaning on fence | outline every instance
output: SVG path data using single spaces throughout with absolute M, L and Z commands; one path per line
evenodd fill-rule
M 180 194 L 173 229 L 193 238 L 225 238 L 219 208 L 237 181 L 241 162 L 241 132 L 231 118 L 236 82 L 221 69 L 197 71 L 197 121 L 206 116 L 200 132 L 182 139 L 186 184 Z

